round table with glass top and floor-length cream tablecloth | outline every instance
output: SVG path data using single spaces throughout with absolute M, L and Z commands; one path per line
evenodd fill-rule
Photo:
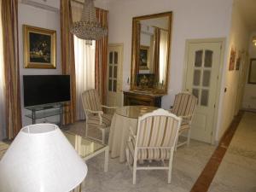
M 130 127 L 136 133 L 137 119 L 156 109 L 150 106 L 125 106 L 115 110 L 108 138 L 111 158 L 119 157 L 119 162 L 125 161 L 125 147 L 130 134 Z

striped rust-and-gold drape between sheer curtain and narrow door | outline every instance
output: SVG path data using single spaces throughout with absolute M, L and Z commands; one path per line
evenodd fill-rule
M 108 27 L 108 11 L 96 8 L 96 18 L 102 26 Z M 106 102 L 108 36 L 96 41 L 95 88 L 103 104 Z

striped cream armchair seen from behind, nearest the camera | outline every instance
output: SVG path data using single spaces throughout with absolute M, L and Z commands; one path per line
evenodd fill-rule
M 164 109 L 157 109 L 138 118 L 137 134 L 130 129 L 126 145 L 127 163 L 131 166 L 133 158 L 133 184 L 136 183 L 137 170 L 168 170 L 168 183 L 172 177 L 172 158 L 181 118 Z M 141 160 L 162 160 L 164 166 L 137 166 Z M 168 166 L 165 160 L 169 160 Z

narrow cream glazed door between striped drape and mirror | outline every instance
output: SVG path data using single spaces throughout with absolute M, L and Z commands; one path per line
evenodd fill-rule
M 123 104 L 123 45 L 108 45 L 108 106 L 121 107 Z

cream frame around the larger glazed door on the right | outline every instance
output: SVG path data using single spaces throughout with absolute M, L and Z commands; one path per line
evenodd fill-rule
M 225 55 L 225 44 L 226 38 L 195 38 L 187 39 L 185 44 L 185 57 L 184 57 L 184 67 L 183 67 L 183 90 L 186 86 L 186 74 L 188 70 L 188 61 L 189 61 L 189 44 L 200 44 L 200 43 L 220 43 L 220 63 L 218 68 L 218 82 L 217 82 L 217 91 L 215 94 L 215 108 L 213 110 L 213 125 L 212 125 L 212 145 L 216 144 L 215 137 L 217 132 L 218 124 L 218 102 L 221 94 L 221 83 L 223 78 L 223 69 L 224 69 L 224 55 Z

